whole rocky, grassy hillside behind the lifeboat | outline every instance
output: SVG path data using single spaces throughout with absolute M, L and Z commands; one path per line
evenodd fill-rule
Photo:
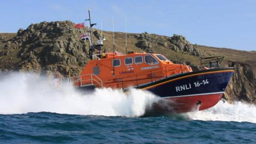
M 0 34 L 0 73 L 32 71 L 51 75 L 58 71 L 62 76 L 79 75 L 89 60 L 89 43 L 79 37 L 86 29 L 77 29 L 71 21 L 41 22 L 19 29 L 17 34 Z M 102 31 L 106 38 L 105 49 L 112 51 L 113 34 Z M 93 30 L 93 39 L 100 31 Z M 125 52 L 125 34 L 115 33 L 117 51 Z M 186 62 L 198 70 L 200 57 L 222 55 L 222 66 L 235 66 L 236 73 L 226 90 L 225 98 L 232 102 L 256 102 L 256 52 L 202 46 L 189 43 L 181 35 L 172 37 L 155 34 L 127 34 L 129 51 L 163 53 L 174 62 Z

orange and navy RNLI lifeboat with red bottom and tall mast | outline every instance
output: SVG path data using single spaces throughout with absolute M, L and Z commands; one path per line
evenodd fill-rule
M 149 91 L 161 98 L 153 105 L 156 113 L 186 113 L 213 107 L 221 100 L 234 73 L 233 67 L 220 68 L 223 57 L 203 58 L 202 70 L 193 71 L 188 65 L 173 63 L 156 53 L 122 54 L 114 50 L 93 55 L 95 49 L 101 52 L 102 41 L 93 45 L 91 39 L 90 44 L 91 60 L 79 76 L 70 78 L 73 85 L 80 90 L 111 87 L 126 93 L 131 88 Z

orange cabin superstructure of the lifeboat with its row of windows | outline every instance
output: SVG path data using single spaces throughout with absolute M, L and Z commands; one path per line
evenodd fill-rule
M 80 80 L 75 81 L 74 85 L 92 84 L 96 87 L 126 89 L 190 71 L 189 66 L 174 64 L 161 54 L 130 52 L 114 55 L 110 52 L 94 55 L 94 60 L 87 63 L 81 76 L 76 77 Z

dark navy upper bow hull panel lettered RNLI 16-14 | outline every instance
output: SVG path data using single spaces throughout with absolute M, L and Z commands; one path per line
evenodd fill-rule
M 147 90 L 158 95 L 159 97 L 176 97 L 180 95 L 224 92 L 231 76 L 233 75 L 233 72 L 221 71 L 221 70 L 231 70 L 231 69 L 234 69 L 234 68 L 209 69 L 209 70 L 201 70 L 201 71 L 195 71 L 192 73 L 175 75 L 173 77 L 165 78 L 155 83 L 137 87 L 137 89 L 153 86 Z M 213 72 L 213 73 L 207 74 L 206 72 Z M 194 74 L 200 74 L 200 73 L 206 73 L 206 74 L 193 76 Z M 169 83 L 161 84 L 163 82 L 170 81 L 171 79 L 184 77 L 184 76 L 187 76 L 187 77 L 177 79 Z M 199 86 L 196 86 L 198 85 L 198 83 L 199 83 Z M 157 85 L 154 87 L 154 85 L 156 84 L 160 84 L 160 85 Z

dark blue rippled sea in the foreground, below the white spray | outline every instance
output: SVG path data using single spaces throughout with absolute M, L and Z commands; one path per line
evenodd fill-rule
M 182 116 L 0 115 L 0 143 L 256 143 L 256 124 Z

